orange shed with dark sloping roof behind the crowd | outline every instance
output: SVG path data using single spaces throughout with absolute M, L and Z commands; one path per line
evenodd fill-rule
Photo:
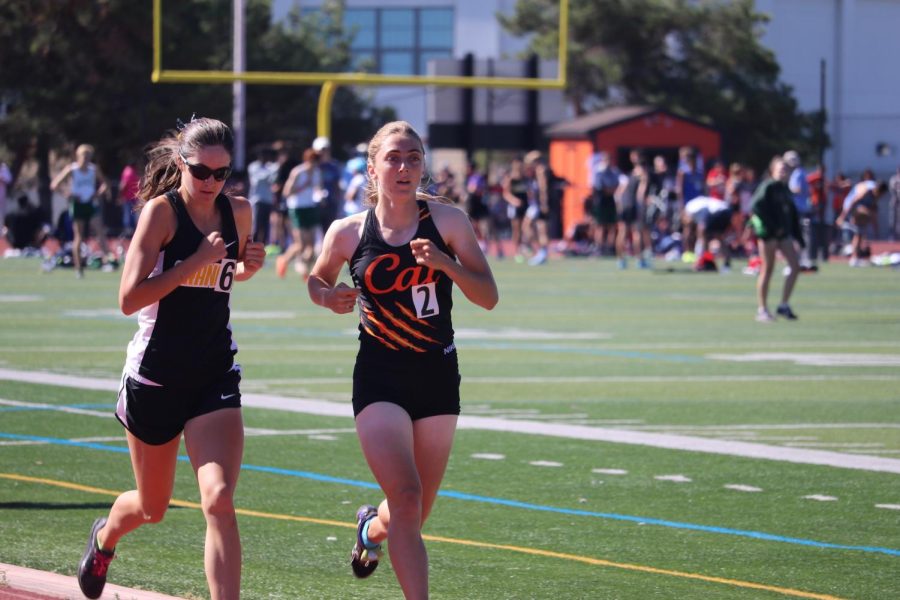
M 628 153 L 642 149 L 662 154 L 674 169 L 681 146 L 693 146 L 705 164 L 719 158 L 721 134 L 715 127 L 653 106 L 615 106 L 561 121 L 546 129 L 550 167 L 569 185 L 562 201 L 563 232 L 584 218 L 591 193 L 593 157 L 607 152 L 620 168 L 629 168 Z

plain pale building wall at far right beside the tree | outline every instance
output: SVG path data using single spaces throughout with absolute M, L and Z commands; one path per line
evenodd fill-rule
M 756 0 L 769 23 L 763 43 L 805 111 L 825 109 L 832 148 L 825 166 L 856 179 L 863 169 L 887 178 L 900 164 L 900 2 Z M 807 162 L 813 157 L 806 157 Z

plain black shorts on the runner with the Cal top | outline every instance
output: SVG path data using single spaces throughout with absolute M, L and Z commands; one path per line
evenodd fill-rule
M 375 402 L 403 408 L 413 421 L 459 414 L 459 364 L 456 350 L 427 356 L 360 347 L 353 368 L 353 415 Z

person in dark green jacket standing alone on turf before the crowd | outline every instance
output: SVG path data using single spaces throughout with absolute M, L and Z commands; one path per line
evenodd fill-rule
M 797 315 L 788 303 L 794 284 L 800 274 L 800 261 L 797 256 L 796 240 L 803 246 L 800 233 L 800 218 L 794 206 L 794 198 L 787 185 L 790 174 L 784 159 L 776 156 L 769 163 L 769 179 L 764 181 L 753 194 L 750 224 L 756 232 L 759 256 L 762 260 L 756 280 L 757 312 L 756 320 L 771 322 L 775 320 L 768 308 L 769 282 L 775 268 L 775 256 L 781 252 L 788 263 L 789 271 L 781 291 L 781 304 L 776 314 L 788 320 L 795 320 Z

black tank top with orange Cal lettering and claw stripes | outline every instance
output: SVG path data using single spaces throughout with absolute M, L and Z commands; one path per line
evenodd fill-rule
M 419 200 L 413 239 L 429 239 L 451 258 L 428 203 Z M 350 259 L 359 295 L 359 339 L 364 346 L 414 355 L 450 354 L 453 342 L 453 281 L 442 271 L 416 264 L 409 243 L 388 244 L 375 210 L 369 209 L 362 239 Z M 434 353 L 434 354 L 432 354 Z

